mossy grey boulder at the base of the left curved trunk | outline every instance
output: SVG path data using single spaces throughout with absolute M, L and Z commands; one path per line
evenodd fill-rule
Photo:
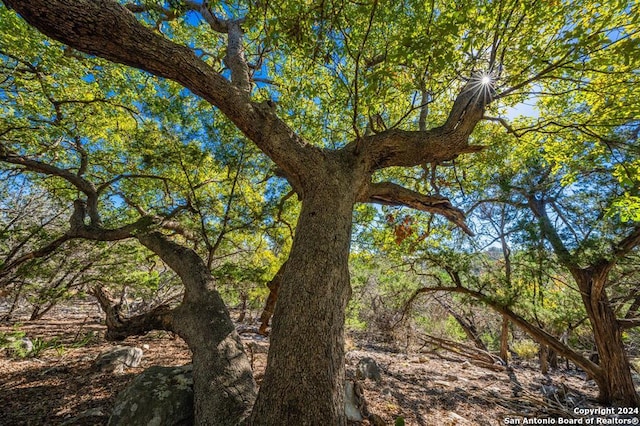
M 109 426 L 193 424 L 193 370 L 153 366 L 116 398 Z

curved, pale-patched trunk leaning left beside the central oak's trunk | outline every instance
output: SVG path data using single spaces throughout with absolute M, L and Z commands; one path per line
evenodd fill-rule
M 173 328 L 193 353 L 195 422 L 229 426 L 244 422 L 256 396 L 249 359 L 202 259 L 159 232 L 138 240 L 182 279 L 185 295 Z

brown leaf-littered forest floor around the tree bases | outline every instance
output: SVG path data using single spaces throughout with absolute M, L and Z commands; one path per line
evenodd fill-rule
M 0 351 L 0 425 L 105 425 L 116 395 L 136 374 L 152 365 L 190 362 L 180 338 L 152 332 L 120 343 L 143 348 L 139 367 L 123 374 L 96 371 L 97 355 L 116 343 L 104 340 L 101 312 L 89 303 L 57 309 L 39 321 L 0 325 L 0 333 L 18 330 L 51 347 L 27 358 Z M 267 339 L 254 333 L 242 337 L 259 383 Z M 403 353 L 361 340 L 349 340 L 347 374 L 353 377 L 364 357 L 377 362 L 382 380 L 363 381 L 364 396 L 369 411 L 390 425 L 398 417 L 420 426 L 527 424 L 524 419 L 544 418 L 556 422 L 537 424 L 558 424 L 560 417 L 580 418 L 572 407 L 598 407 L 593 381 L 578 370 L 543 375 L 527 363 L 483 368 L 444 351 Z

